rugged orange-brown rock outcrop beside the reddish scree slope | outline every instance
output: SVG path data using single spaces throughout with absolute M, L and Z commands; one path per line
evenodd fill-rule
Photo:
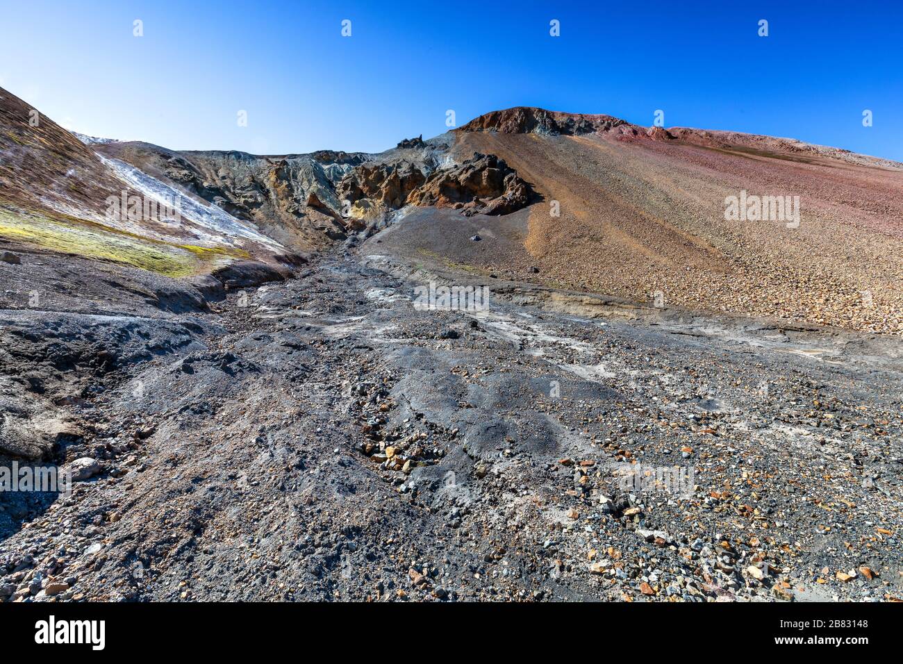
M 363 164 L 346 175 L 336 191 L 360 210 L 418 205 L 454 208 L 468 216 L 507 214 L 534 198 L 530 186 L 494 154 L 474 154 L 463 164 L 429 175 L 408 162 Z

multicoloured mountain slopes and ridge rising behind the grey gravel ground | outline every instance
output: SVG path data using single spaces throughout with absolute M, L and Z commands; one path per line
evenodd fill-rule
M 888 160 L 541 108 L 490 112 L 380 154 L 175 151 L 84 143 L 50 118 L 33 126 L 33 110 L 2 91 L 6 248 L 176 277 L 256 262 L 280 278 L 311 252 L 428 209 L 450 241 L 437 245 L 416 223 L 395 241 L 487 276 L 903 332 L 903 165 Z M 182 219 L 111 224 L 105 201 L 123 191 L 172 196 Z M 740 192 L 798 196 L 799 227 L 726 219 L 725 200 Z M 485 219 L 499 238 L 452 241 L 462 217 Z

